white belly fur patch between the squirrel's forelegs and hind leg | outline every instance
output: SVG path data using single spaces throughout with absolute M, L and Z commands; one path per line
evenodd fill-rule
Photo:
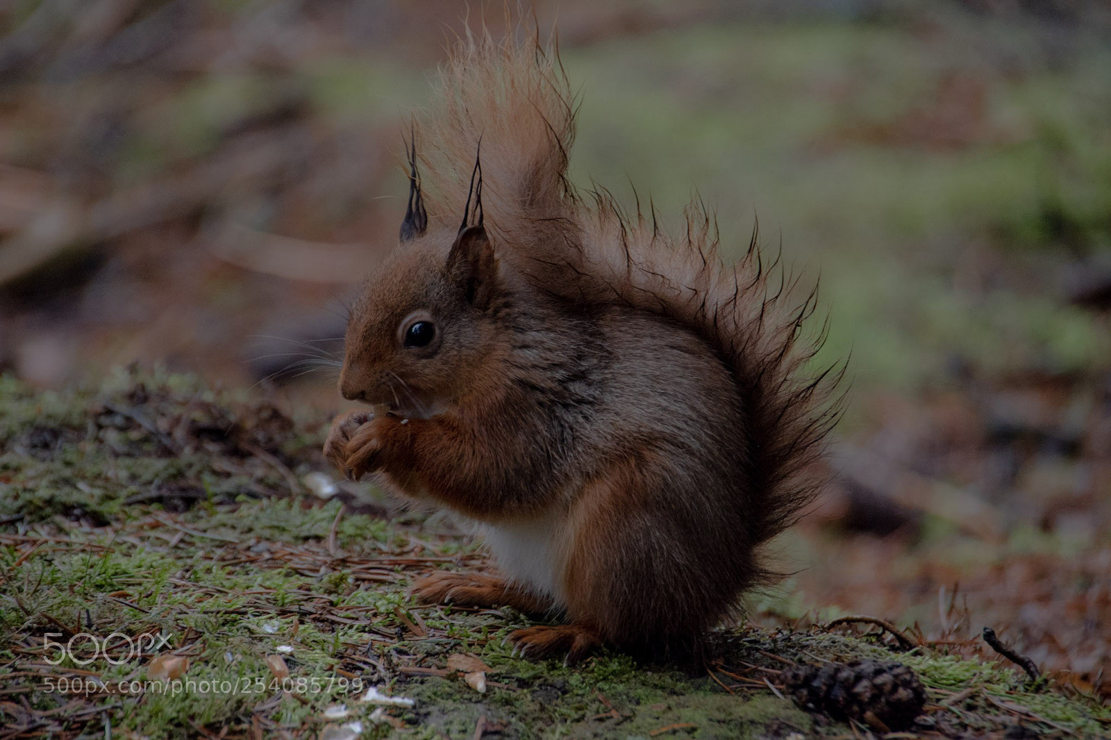
M 563 569 L 568 538 L 564 527 L 564 518 L 549 514 L 522 523 L 479 523 L 476 529 L 502 572 L 562 607 L 567 604 Z

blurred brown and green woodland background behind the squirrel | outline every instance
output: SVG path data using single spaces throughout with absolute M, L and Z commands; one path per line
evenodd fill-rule
M 139 360 L 276 388 L 404 210 L 401 133 L 466 4 L 0 3 L 0 369 Z M 538 0 L 573 179 L 821 276 L 849 412 L 782 623 L 984 624 L 1111 700 L 1111 4 Z M 496 31 L 501 3 L 470 3 Z M 727 247 L 728 252 L 728 247 Z

